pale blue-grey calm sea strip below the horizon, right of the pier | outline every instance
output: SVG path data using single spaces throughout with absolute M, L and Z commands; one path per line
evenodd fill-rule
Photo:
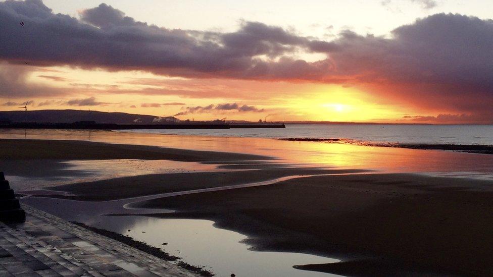
M 493 145 L 493 125 L 286 124 L 286 129 L 130 130 L 125 132 L 258 138 L 340 138 L 376 143 Z

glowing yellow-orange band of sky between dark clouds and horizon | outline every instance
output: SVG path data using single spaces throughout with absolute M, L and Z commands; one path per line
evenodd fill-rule
M 263 82 L 248 80 L 188 79 L 165 77 L 140 71 L 108 72 L 71 67 L 34 68 L 26 78 L 33 87 L 51 87 L 70 92 L 56 97 L 0 98 L 3 110 L 20 110 L 29 100 L 29 110 L 81 109 L 101 112 L 174 116 L 187 107 L 237 103 L 259 111 L 209 110 L 176 116 L 180 120 L 331 121 L 367 123 L 412 122 L 406 116 L 436 116 L 453 113 L 425 110 L 403 104 L 376 102 L 356 88 L 322 83 Z M 94 96 L 95 95 L 95 96 Z M 94 97 L 95 103 L 69 105 L 73 99 Z M 409 117 L 411 118 L 411 117 Z M 412 119 L 412 118 L 411 118 Z

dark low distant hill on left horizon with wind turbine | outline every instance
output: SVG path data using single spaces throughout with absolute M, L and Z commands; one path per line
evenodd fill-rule
M 76 121 L 95 121 L 96 123 L 171 123 L 180 122 L 174 117 L 156 117 L 127 113 L 96 112 L 77 109 L 13 110 L 0 112 L 0 121 L 73 123 Z

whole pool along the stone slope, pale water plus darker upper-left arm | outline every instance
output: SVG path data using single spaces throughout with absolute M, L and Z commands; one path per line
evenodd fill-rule
M 104 215 L 125 211 L 122 200 L 84 202 L 26 197 L 21 201 L 68 221 L 79 221 L 128 235 L 182 257 L 189 264 L 207 265 L 206 269 L 212 270 L 216 276 L 230 276 L 231 273 L 237 276 L 330 276 L 327 273 L 294 269 L 292 266 L 339 261 L 301 253 L 251 251 L 248 245 L 241 242 L 247 236 L 216 228 L 210 220 Z M 150 212 L 146 209 L 139 211 Z M 152 211 L 156 212 L 156 209 Z M 160 212 L 173 211 L 161 209 Z

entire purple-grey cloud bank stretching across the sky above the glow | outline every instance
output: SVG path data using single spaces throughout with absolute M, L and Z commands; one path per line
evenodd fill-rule
M 0 3 L 0 26 L 0 60 L 10 64 L 335 83 L 461 113 L 488 114 L 493 101 L 493 21 L 459 14 L 418 19 L 385 37 L 343 31 L 324 41 L 260 22 L 243 22 L 229 33 L 168 29 L 106 4 L 74 18 L 27 0 Z M 299 53 L 325 58 L 309 62 L 295 58 Z M 24 69 L 17 70 L 20 75 L 0 72 L 0 95 L 23 92 Z

